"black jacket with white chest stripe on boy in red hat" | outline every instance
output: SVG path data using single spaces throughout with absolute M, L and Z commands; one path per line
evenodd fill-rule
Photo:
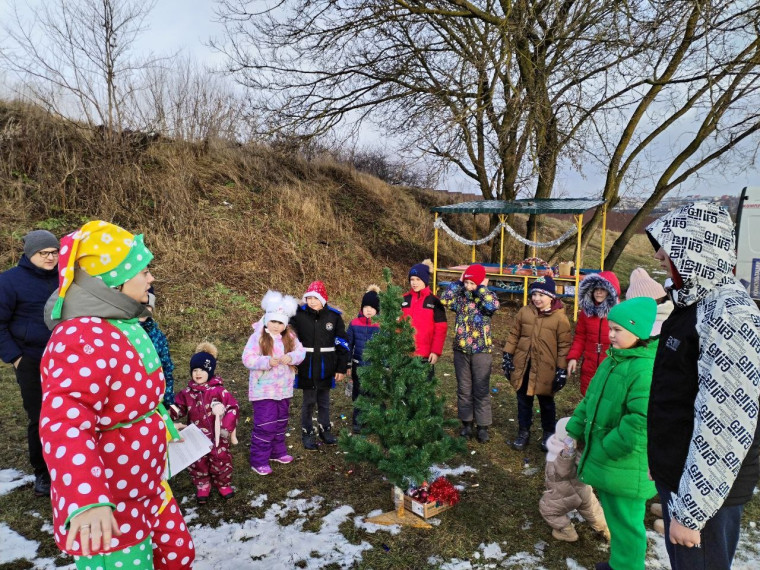
M 335 374 L 348 368 L 348 341 L 340 311 L 325 305 L 320 311 L 301 305 L 290 324 L 306 349 L 298 366 L 296 388 L 332 388 Z

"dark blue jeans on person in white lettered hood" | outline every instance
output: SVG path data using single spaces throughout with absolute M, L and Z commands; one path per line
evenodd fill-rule
M 655 481 L 662 500 L 665 522 L 665 547 L 673 570 L 731 570 L 731 562 L 739 542 L 739 523 L 744 505 L 721 507 L 700 532 L 701 547 L 687 548 L 670 542 L 670 513 L 668 502 L 672 491 Z

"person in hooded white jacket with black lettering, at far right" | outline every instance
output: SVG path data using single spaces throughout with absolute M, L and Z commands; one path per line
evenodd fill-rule
M 727 570 L 760 468 L 760 312 L 733 275 L 725 208 L 691 203 L 647 234 L 675 305 L 662 325 L 647 416 L 665 544 L 675 570 Z

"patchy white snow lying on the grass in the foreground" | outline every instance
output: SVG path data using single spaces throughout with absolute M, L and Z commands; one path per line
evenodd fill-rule
M 472 468 L 460 468 L 460 470 L 457 470 L 459 473 L 456 474 L 469 472 Z M 2 470 L 0 471 L 0 493 L 10 492 L 29 480 L 29 476 L 24 476 L 18 471 Z M 271 503 L 263 518 L 260 519 L 251 519 L 242 523 L 222 522 L 216 528 L 191 525 L 190 531 L 196 546 L 194 568 L 218 570 L 237 566 L 279 570 L 294 568 L 296 564 L 309 569 L 328 566 L 350 568 L 358 564 L 362 560 L 363 553 L 372 546 L 365 541 L 359 544 L 348 543 L 340 533 L 341 524 L 351 521 L 356 528 L 368 533 L 382 531 L 397 534 L 401 530 L 396 526 L 384 527 L 367 523 L 363 516 L 354 515 L 354 510 L 347 505 L 325 513 L 322 497 L 304 498 L 301 497 L 302 494 L 302 491 L 298 489 L 291 490 L 284 501 Z M 251 505 L 263 507 L 267 501 L 266 495 L 258 495 L 251 500 Z M 369 516 L 378 513 L 379 511 L 374 511 L 369 513 Z M 197 518 L 196 509 L 185 508 L 185 518 L 188 521 Z M 284 520 L 289 521 L 289 524 L 283 524 Z M 760 568 L 760 552 L 757 546 L 760 544 L 760 530 L 754 521 L 749 524 L 749 527 L 741 534 L 733 570 Z M 45 521 L 43 530 L 50 531 L 49 521 Z M 649 531 L 647 537 L 650 541 L 647 551 L 647 570 L 667 570 L 670 565 L 664 538 L 654 531 Z M 36 570 L 75 569 L 73 564 L 56 567 L 56 559 L 53 558 L 36 558 L 39 544 L 27 540 L 2 522 L 0 522 L 0 544 L 3 545 L 0 549 L 0 564 L 26 559 Z M 539 541 L 533 546 L 532 552 L 510 554 L 506 542 L 481 544 L 469 559 L 445 560 L 440 556 L 433 556 L 428 562 L 441 570 L 499 568 L 546 570 L 544 551 L 548 546 L 546 542 Z M 600 546 L 599 553 L 599 560 L 603 560 L 605 558 L 603 546 Z M 61 562 L 60 558 L 57 560 Z M 589 570 L 572 558 L 567 558 L 565 563 L 568 570 Z

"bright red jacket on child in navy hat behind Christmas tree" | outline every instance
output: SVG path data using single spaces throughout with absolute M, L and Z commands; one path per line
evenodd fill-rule
M 414 354 L 427 358 L 431 353 L 440 356 L 446 341 L 446 309 L 430 287 L 419 293 L 409 291 L 404 295 L 401 312 L 412 320 L 414 327 Z

